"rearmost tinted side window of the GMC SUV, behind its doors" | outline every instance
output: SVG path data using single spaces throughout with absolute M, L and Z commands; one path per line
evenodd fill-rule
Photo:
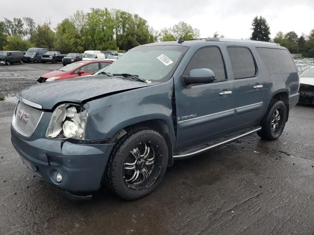
M 295 72 L 295 65 L 285 49 L 256 47 L 269 74 Z

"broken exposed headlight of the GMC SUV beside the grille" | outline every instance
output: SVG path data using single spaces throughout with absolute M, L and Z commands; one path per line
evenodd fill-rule
M 84 140 L 88 113 L 77 104 L 61 104 L 52 113 L 47 138 Z

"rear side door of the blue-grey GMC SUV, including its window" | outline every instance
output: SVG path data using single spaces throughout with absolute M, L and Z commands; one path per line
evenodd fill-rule
M 236 128 L 259 123 L 262 117 L 264 81 L 248 47 L 227 47 L 234 78 Z

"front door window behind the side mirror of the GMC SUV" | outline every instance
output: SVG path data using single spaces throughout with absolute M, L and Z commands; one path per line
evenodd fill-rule
M 203 47 L 195 52 L 183 75 L 191 70 L 209 69 L 215 74 L 216 81 L 226 80 L 224 62 L 218 47 Z

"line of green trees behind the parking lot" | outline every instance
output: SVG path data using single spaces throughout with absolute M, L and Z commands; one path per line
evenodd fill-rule
M 278 32 L 270 38 L 270 26 L 263 17 L 252 22 L 251 40 L 275 42 L 287 47 L 291 53 L 314 57 L 314 29 L 300 37 L 294 32 Z M 29 17 L 4 18 L 0 22 L 0 50 L 26 50 L 46 47 L 62 53 L 84 50 L 129 50 L 156 41 L 174 41 L 199 38 L 200 30 L 184 22 L 165 27 L 160 32 L 137 14 L 122 10 L 92 8 L 90 12 L 77 11 L 52 30 L 51 23 L 36 24 Z M 217 32 L 213 37 L 221 37 Z

